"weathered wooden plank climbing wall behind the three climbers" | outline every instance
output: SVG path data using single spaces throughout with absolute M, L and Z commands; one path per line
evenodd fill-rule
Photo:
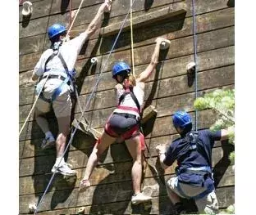
M 66 22 L 68 2 L 64 0 L 34 0 L 33 15 L 30 20 L 20 16 L 20 128 L 34 102 L 34 83 L 30 82 L 32 69 L 39 60 L 42 52 L 48 48 L 47 28 L 54 22 Z M 73 9 L 77 9 L 80 0 L 73 0 Z M 85 29 L 92 20 L 103 0 L 87 0 L 84 2 L 74 29 Z M 227 0 L 197 0 L 197 43 L 198 43 L 198 88 L 199 95 L 211 92 L 216 88 L 233 88 L 235 84 L 235 38 L 234 38 L 234 7 L 227 6 Z M 109 17 L 103 20 L 103 26 L 111 25 L 124 19 L 130 1 L 115 0 Z M 189 87 L 185 65 L 193 60 L 193 29 L 192 29 L 192 0 L 161 0 L 146 1 L 135 0 L 134 16 L 142 15 L 148 11 L 155 11 L 164 7 L 172 9 L 184 8 L 185 16 L 177 16 L 175 20 L 167 23 L 135 30 L 135 72 L 139 74 L 149 64 L 154 48 L 154 40 L 158 36 L 167 36 L 171 46 L 166 56 L 162 56 L 155 76 L 146 83 L 146 103 L 155 105 L 158 110 L 156 119 L 148 125 L 146 141 L 156 163 L 159 174 L 153 174 L 146 168 L 144 174 L 144 187 L 153 187 L 153 205 L 149 210 L 130 205 L 131 189 L 131 158 L 123 144 L 113 144 L 92 175 L 92 186 L 85 193 L 78 193 L 78 186 L 94 141 L 77 132 L 75 140 L 67 155 L 67 162 L 73 165 L 78 172 L 74 184 L 69 184 L 56 177 L 50 187 L 39 214 L 71 214 L 77 213 L 79 208 L 85 206 L 85 214 L 124 214 L 124 213 L 150 213 L 170 214 L 171 203 L 167 198 L 161 178 L 174 175 L 174 167 L 162 172 L 157 162 L 154 147 L 159 143 L 170 142 L 177 136 L 176 130 L 171 126 L 171 114 L 178 109 L 189 111 L 194 117 L 194 83 Z M 20 12 L 21 12 L 20 7 Z M 98 31 L 99 32 L 99 31 Z M 79 78 L 80 101 L 85 104 L 94 83 L 98 78 L 99 70 L 107 60 L 114 37 L 100 38 L 95 34 L 85 44 L 80 53 L 75 68 Z M 98 58 L 98 65 L 89 63 L 91 57 Z M 115 108 L 115 94 L 111 68 L 116 60 L 130 62 L 130 33 L 121 34 L 106 69 L 103 78 L 98 84 L 97 92 L 86 110 L 85 116 L 93 128 L 103 130 L 108 115 Z M 75 118 L 80 116 L 80 110 L 75 107 Z M 57 134 L 57 123 L 53 113 L 49 114 L 53 132 Z M 199 128 L 209 128 L 215 115 L 209 110 L 199 112 Z M 150 129 L 151 128 L 151 129 Z M 43 132 L 30 117 L 24 132 L 20 137 L 20 214 L 28 213 L 28 204 L 37 203 L 48 185 L 50 172 L 55 161 L 55 150 L 40 151 L 39 145 Z M 235 178 L 231 165 L 227 159 L 233 147 L 228 144 L 216 143 L 213 149 L 213 165 L 215 165 L 215 179 L 217 197 L 220 208 L 226 208 L 235 201 Z M 149 158 L 148 158 L 149 159 Z M 191 208 L 193 211 L 194 208 Z

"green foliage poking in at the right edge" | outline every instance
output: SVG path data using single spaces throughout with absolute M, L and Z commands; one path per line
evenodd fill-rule
M 227 129 L 229 142 L 235 144 L 235 90 L 220 90 L 206 93 L 194 101 L 197 110 L 212 109 L 217 114 L 217 121 L 210 128 L 212 131 Z M 231 162 L 235 161 L 235 153 L 230 155 Z

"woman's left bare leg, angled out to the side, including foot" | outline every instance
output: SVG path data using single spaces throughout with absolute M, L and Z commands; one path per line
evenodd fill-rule
M 116 139 L 116 137 L 110 137 L 109 135 L 107 135 L 106 132 L 103 132 L 100 141 L 97 141 L 97 143 L 94 146 L 92 154 L 89 155 L 89 159 L 85 169 L 85 176 L 83 180 L 80 182 L 80 191 L 83 191 L 90 186 L 89 177 L 91 176 L 92 172 L 94 171 L 94 168 L 98 163 L 98 157 L 102 155 L 103 152 L 107 149 L 107 147 L 110 146 Z

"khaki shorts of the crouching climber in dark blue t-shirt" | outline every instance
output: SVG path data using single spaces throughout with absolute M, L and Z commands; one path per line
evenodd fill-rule
M 174 191 L 177 195 L 181 196 L 182 198 L 185 198 L 184 196 L 181 195 L 181 193 L 177 189 L 177 184 L 178 184 L 178 177 L 171 177 L 167 181 L 167 186 L 172 191 Z M 184 183 L 180 183 L 180 186 L 181 186 L 181 190 L 185 193 L 185 195 L 188 195 L 188 196 L 199 195 L 204 190 L 206 190 L 206 187 L 190 186 Z M 218 213 L 218 203 L 217 203 L 217 196 L 215 194 L 215 190 L 213 190 L 208 195 L 205 195 L 202 199 L 195 200 L 195 204 L 199 209 L 199 213 L 206 213 L 206 214 Z

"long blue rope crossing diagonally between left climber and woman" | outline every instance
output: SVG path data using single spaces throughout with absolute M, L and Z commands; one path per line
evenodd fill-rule
M 135 0 L 133 0 L 132 4 L 131 4 L 131 6 L 130 6 L 130 9 L 133 7 L 134 2 L 135 2 Z M 120 34 L 121 34 L 121 30 L 123 29 L 123 27 L 124 27 L 124 25 L 125 25 L 125 23 L 126 23 L 127 17 L 128 17 L 128 15 L 129 15 L 129 13 L 130 13 L 130 9 L 129 9 L 129 11 L 128 11 L 127 14 L 126 14 L 125 20 L 123 20 L 123 23 L 122 23 L 122 25 L 121 25 L 121 28 L 120 28 L 120 30 L 119 30 L 119 32 L 118 32 L 118 34 L 117 34 L 117 38 L 115 39 L 115 42 L 114 42 L 114 44 L 113 44 L 113 46 L 112 46 L 112 49 L 111 49 L 111 51 L 109 52 L 109 54 L 108 54 L 108 56 L 107 56 L 106 63 L 103 65 L 103 69 L 101 69 L 100 73 L 98 74 L 98 79 L 97 79 L 97 81 L 96 81 L 96 83 L 95 83 L 95 85 L 94 85 L 93 91 L 91 92 L 88 101 L 87 101 L 86 104 L 85 104 L 85 109 L 83 110 L 83 112 L 82 112 L 81 115 L 80 115 L 80 119 L 78 120 L 77 126 L 75 126 L 74 131 L 71 132 L 70 141 L 68 141 L 68 143 L 67 143 L 67 145 L 66 145 L 66 149 L 65 149 L 65 151 L 64 151 L 64 153 L 63 153 L 63 155 L 62 155 L 62 158 L 61 158 L 60 160 L 63 159 L 64 155 L 66 154 L 66 150 L 69 148 L 69 146 L 71 145 L 71 142 L 73 141 L 73 138 L 74 138 L 74 136 L 75 136 L 75 132 L 76 132 L 76 130 L 77 130 L 77 128 L 78 128 L 78 125 L 79 125 L 81 119 L 83 118 L 83 116 L 84 116 L 84 114 L 85 114 L 85 110 L 87 110 L 87 108 L 88 108 L 88 106 L 89 106 L 89 102 L 90 102 L 90 100 L 92 99 L 92 97 L 93 97 L 93 95 L 94 95 L 94 92 L 96 91 L 96 88 L 98 87 L 99 80 L 102 78 L 102 74 L 103 74 L 103 71 L 105 70 L 105 68 L 106 68 L 106 66 L 107 66 L 107 62 L 108 62 L 108 60 L 109 60 L 109 58 L 110 58 L 110 56 L 111 56 L 111 54 L 112 54 L 112 52 L 113 52 L 113 50 L 114 50 L 116 44 L 117 44 L 117 40 L 118 40 L 118 38 L 119 38 L 119 36 L 120 36 Z M 77 13 L 76 13 L 76 15 L 77 15 Z M 73 22 L 74 22 L 74 21 L 73 21 Z M 58 168 L 58 166 L 59 166 L 60 163 L 61 163 L 61 161 L 57 164 L 57 168 Z M 52 182 L 53 182 L 53 178 L 54 178 L 54 176 L 55 176 L 55 174 L 56 174 L 56 172 L 57 172 L 57 168 L 56 168 L 56 170 L 53 172 L 53 176 L 51 177 L 50 181 L 48 182 L 48 186 L 47 186 L 46 189 L 44 190 L 43 195 L 42 195 L 42 197 L 41 197 L 41 199 L 40 199 L 40 201 L 39 201 L 39 204 L 37 205 L 37 207 L 36 207 L 36 209 L 35 209 L 35 211 L 34 211 L 34 214 L 36 214 L 36 213 L 38 212 L 38 210 L 39 210 L 39 208 L 40 208 L 40 205 L 41 205 L 42 202 L 43 202 L 43 198 L 44 198 L 44 196 L 46 195 L 46 193 L 47 193 L 49 187 L 51 186 L 51 184 L 52 184 Z

